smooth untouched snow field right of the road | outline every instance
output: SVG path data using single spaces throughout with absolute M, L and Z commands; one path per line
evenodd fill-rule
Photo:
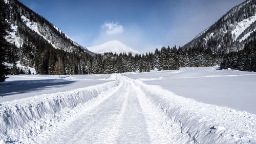
M 123 75 L 206 104 L 256 114 L 256 73 L 216 69 L 218 68 L 181 68 L 178 71 Z

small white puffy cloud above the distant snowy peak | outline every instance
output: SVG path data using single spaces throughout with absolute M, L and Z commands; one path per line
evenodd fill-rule
M 118 25 L 117 23 L 104 23 L 101 26 L 101 29 L 106 30 L 106 33 L 109 35 L 123 33 L 123 26 Z

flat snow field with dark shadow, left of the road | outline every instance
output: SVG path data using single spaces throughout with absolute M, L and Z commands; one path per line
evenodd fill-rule
M 70 91 L 115 80 L 113 75 L 8 75 L 1 83 L 0 102 L 41 94 Z

